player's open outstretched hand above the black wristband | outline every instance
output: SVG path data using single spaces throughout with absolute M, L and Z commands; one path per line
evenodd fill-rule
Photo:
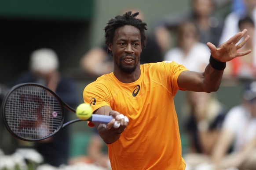
M 238 52 L 238 50 L 250 39 L 249 35 L 247 35 L 241 43 L 236 45 L 246 32 L 247 29 L 244 29 L 242 32 L 238 32 L 218 47 L 214 46 L 212 43 L 207 43 L 207 46 L 211 50 L 212 57 L 220 62 L 227 62 L 233 60 L 235 57 L 241 57 L 251 53 L 252 50 Z

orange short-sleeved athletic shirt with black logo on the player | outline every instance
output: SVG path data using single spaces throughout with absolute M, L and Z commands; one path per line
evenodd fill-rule
M 93 110 L 110 106 L 128 117 L 121 137 L 108 145 L 113 170 L 184 170 L 174 96 L 187 69 L 173 61 L 140 65 L 141 75 L 122 83 L 113 72 L 84 89 Z M 89 124 L 90 125 L 90 124 Z

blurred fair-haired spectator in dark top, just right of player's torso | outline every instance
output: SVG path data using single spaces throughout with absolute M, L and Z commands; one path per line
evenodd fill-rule
M 189 116 L 186 127 L 190 147 L 184 160 L 187 165 L 195 168 L 201 163 L 210 163 L 226 110 L 212 93 L 187 92 L 187 100 L 186 112 Z

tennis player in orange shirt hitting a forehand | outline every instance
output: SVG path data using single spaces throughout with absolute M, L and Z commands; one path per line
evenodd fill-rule
M 147 28 L 138 14 L 118 15 L 105 27 L 114 70 L 87 85 L 83 96 L 94 114 L 114 118 L 107 125 L 88 125 L 95 126 L 108 145 L 113 170 L 184 170 L 174 96 L 178 90 L 217 91 L 226 62 L 251 52 L 237 51 L 249 36 L 236 45 L 245 29 L 218 47 L 207 43 L 211 56 L 203 73 L 188 71 L 175 61 L 140 65 Z M 121 126 L 115 128 L 115 121 Z

